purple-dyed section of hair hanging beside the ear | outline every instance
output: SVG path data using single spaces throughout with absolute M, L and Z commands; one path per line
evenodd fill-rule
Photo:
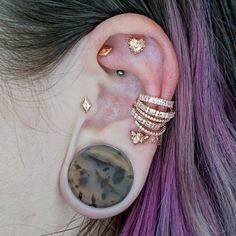
M 181 73 L 176 116 L 121 235 L 235 235 L 236 132 L 225 110 L 235 121 L 235 97 L 211 50 L 209 8 L 190 6 L 187 33 L 176 2 L 168 3 Z

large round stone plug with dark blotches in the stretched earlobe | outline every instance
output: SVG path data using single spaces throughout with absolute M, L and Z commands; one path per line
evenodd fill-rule
M 75 153 L 68 182 L 83 204 L 107 208 L 127 196 L 133 183 L 133 169 L 121 150 L 105 144 L 89 145 Z

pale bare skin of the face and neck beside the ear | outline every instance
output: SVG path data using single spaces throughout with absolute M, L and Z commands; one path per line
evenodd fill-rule
M 14 98 L 2 91 L 0 235 L 44 235 L 83 219 L 63 201 L 58 178 L 75 122 L 84 119 L 79 91 L 86 86 L 80 80 L 86 62 L 78 55 L 86 42 L 87 37 L 76 49 L 81 53 L 69 53 L 40 85 L 12 88 Z M 45 89 L 51 81 L 56 84 Z

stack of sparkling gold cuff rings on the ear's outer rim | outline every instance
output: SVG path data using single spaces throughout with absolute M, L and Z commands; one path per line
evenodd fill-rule
M 147 104 L 161 105 L 168 109 L 166 112 L 158 111 Z M 175 116 L 173 105 L 173 101 L 141 94 L 131 110 L 131 115 L 138 128 L 137 131 L 130 131 L 132 142 L 161 145 L 166 123 Z

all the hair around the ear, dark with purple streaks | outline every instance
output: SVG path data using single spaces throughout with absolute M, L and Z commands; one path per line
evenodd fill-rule
M 46 72 L 99 23 L 127 12 L 156 21 L 174 44 L 180 69 L 176 115 L 136 201 L 105 222 L 89 219 L 78 235 L 97 227 L 99 235 L 235 236 L 232 0 L 2 1 L 0 48 L 7 53 L 1 73 L 20 83 L 20 76 Z

